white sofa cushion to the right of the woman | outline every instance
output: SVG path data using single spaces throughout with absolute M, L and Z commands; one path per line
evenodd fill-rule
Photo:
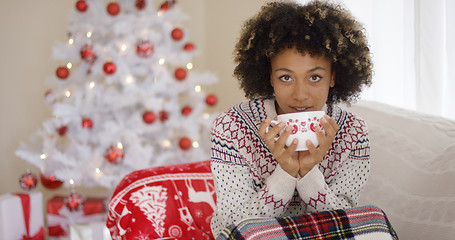
M 455 236 L 455 121 L 360 101 L 371 172 L 361 205 L 381 207 L 400 239 Z

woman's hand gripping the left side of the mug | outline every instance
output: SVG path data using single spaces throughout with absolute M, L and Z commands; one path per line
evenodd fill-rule
M 278 161 L 281 168 L 289 175 L 297 177 L 299 173 L 299 159 L 297 148 L 298 141 L 295 139 L 291 146 L 286 147 L 286 139 L 291 135 L 291 127 L 286 127 L 286 124 L 281 122 L 278 125 L 271 127 L 267 132 L 266 129 L 270 126 L 271 120 L 267 118 L 259 126 L 259 136 L 265 141 L 267 147 L 272 152 L 273 157 Z M 283 130 L 281 136 L 275 140 L 275 137 Z

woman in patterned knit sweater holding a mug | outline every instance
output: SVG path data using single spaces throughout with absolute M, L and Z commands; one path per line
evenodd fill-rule
M 339 6 L 273 2 L 249 19 L 235 49 L 234 75 L 248 102 L 222 113 L 212 128 L 217 208 L 214 236 L 251 217 L 295 216 L 356 206 L 370 166 L 366 124 L 336 104 L 371 84 L 362 26 Z M 324 110 L 319 146 L 286 147 L 278 114 Z M 277 140 L 275 136 L 284 130 Z

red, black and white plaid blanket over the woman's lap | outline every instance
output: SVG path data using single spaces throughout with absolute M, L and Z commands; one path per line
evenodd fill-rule
M 308 213 L 294 217 L 248 219 L 229 226 L 218 240 L 398 239 L 386 214 L 375 206 Z

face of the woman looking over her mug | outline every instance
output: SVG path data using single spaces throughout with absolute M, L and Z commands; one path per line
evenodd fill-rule
M 318 111 L 335 85 L 331 62 L 322 56 L 286 48 L 271 59 L 272 84 L 278 114 Z

